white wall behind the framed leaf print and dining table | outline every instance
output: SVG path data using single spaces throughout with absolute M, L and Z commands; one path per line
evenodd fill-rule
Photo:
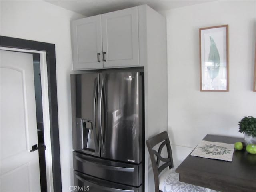
M 168 134 L 178 166 L 206 134 L 243 137 L 238 122 L 256 116 L 253 88 L 256 1 L 175 8 L 167 18 Z M 199 28 L 229 25 L 229 92 L 200 92 Z

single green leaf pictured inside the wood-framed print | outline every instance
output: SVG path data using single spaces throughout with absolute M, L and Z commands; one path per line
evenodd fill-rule
M 208 56 L 208 62 L 213 63 L 213 66 L 208 66 L 207 70 L 208 73 L 210 75 L 210 78 L 212 79 L 212 81 L 214 80 L 214 78 L 216 78 L 219 74 L 219 70 L 220 70 L 220 55 L 218 52 L 218 48 L 216 47 L 216 44 L 213 40 L 213 38 L 210 36 L 210 53 Z

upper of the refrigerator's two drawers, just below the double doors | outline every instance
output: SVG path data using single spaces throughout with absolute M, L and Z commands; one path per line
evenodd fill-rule
M 74 170 L 131 186 L 142 184 L 142 164 L 128 164 L 73 152 Z

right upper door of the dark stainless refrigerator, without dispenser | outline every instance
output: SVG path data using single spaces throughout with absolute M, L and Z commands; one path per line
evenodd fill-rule
M 101 156 L 138 164 L 142 161 L 143 73 L 100 73 L 99 80 Z

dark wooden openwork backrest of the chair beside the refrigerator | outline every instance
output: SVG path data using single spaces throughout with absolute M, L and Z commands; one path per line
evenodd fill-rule
M 166 131 L 153 136 L 152 138 L 146 141 L 148 152 L 150 155 L 153 173 L 154 173 L 154 181 L 155 181 L 155 191 L 159 192 L 159 174 L 167 167 L 173 167 L 172 160 L 172 149 L 170 145 L 170 140 Z M 160 144 L 158 150 L 154 150 L 154 146 Z M 166 146 L 168 158 L 164 158 L 161 156 L 162 149 Z M 155 158 L 156 156 L 156 158 Z M 164 164 L 160 165 L 160 161 L 164 162 Z M 160 165 L 160 166 L 159 166 Z

